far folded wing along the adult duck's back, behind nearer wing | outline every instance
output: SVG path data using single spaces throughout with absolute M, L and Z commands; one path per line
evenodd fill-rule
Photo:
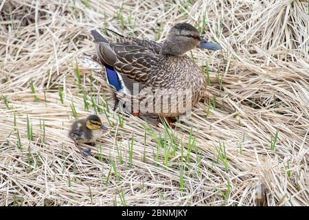
M 119 34 L 118 32 L 110 30 L 108 28 L 106 28 L 106 30 L 113 32 L 114 34 L 117 34 L 117 36 L 119 36 L 116 39 L 116 43 L 124 43 L 124 44 L 127 44 L 127 45 L 139 45 L 141 47 L 147 48 L 148 50 L 150 50 L 151 52 L 153 52 L 155 54 L 160 53 L 162 43 L 157 43 L 156 41 L 151 41 L 151 40 L 141 40 L 141 39 L 138 39 L 134 36 L 124 36 L 122 34 Z

